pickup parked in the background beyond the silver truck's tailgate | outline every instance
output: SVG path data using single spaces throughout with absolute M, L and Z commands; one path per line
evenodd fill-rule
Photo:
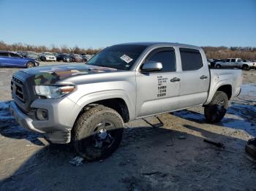
M 249 69 L 255 69 L 256 65 L 253 62 L 250 61 L 243 61 L 241 58 L 227 58 L 225 61 L 217 62 L 216 68 L 238 68 L 243 70 L 249 70 Z

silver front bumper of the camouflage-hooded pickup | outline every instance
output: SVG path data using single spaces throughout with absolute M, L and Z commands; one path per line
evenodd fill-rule
M 49 100 L 50 101 L 50 100 Z M 66 144 L 70 142 L 71 139 L 71 129 L 72 129 L 72 122 L 67 122 L 69 120 L 69 117 L 67 117 L 67 114 L 61 113 L 58 109 L 60 108 L 59 104 L 53 104 L 48 103 L 48 100 L 44 101 L 34 101 L 32 105 L 34 108 L 39 109 L 47 109 L 48 110 L 48 120 L 37 120 L 36 117 L 31 117 L 25 112 L 23 112 L 17 104 L 15 104 L 14 101 L 11 101 L 9 109 L 13 117 L 15 117 L 15 120 L 23 127 L 28 130 L 32 130 L 37 133 L 42 133 L 45 136 L 45 139 L 48 139 L 52 143 L 56 144 Z M 50 101 L 54 102 L 54 101 Z M 69 104 L 67 104 L 67 107 L 69 110 L 72 111 L 72 106 L 75 105 L 75 103 L 72 103 L 72 101 L 68 101 Z M 36 107 L 38 106 L 38 107 Z M 69 116 L 72 116 L 72 114 L 69 113 Z

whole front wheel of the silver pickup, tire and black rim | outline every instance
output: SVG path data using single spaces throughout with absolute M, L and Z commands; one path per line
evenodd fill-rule
M 103 159 L 118 148 L 123 130 L 124 122 L 118 112 L 105 106 L 95 106 L 76 120 L 72 143 L 86 160 Z

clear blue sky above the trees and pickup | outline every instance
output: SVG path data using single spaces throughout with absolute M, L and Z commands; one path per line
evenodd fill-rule
M 0 41 L 8 44 L 256 47 L 256 0 L 0 0 L 0 18 Z

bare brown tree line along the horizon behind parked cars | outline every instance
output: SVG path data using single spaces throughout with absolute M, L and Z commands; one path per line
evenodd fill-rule
M 0 42 L 0 50 L 10 50 L 10 51 L 33 51 L 33 52 L 56 52 L 56 53 L 75 53 L 75 54 L 90 54 L 93 55 L 100 50 L 94 48 L 80 48 L 67 47 L 66 45 L 61 47 L 56 47 L 52 45 L 51 47 L 46 46 L 34 46 L 31 44 L 7 44 L 3 41 Z M 203 47 L 206 52 L 207 58 L 225 59 L 225 58 L 242 58 L 242 59 L 252 59 L 256 60 L 256 47 Z

